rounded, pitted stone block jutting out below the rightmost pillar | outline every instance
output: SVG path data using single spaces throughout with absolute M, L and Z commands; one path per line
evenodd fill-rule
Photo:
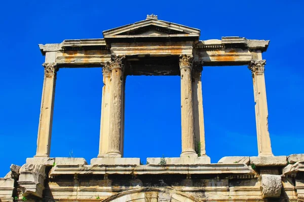
M 263 198 L 280 197 L 282 179 L 280 175 L 260 175 Z

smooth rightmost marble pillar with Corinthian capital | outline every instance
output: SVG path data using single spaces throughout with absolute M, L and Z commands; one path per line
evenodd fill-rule
M 251 61 L 248 68 L 251 70 L 253 79 L 258 156 L 273 156 L 268 131 L 268 108 L 264 77 L 265 64 L 265 60 L 255 60 Z

